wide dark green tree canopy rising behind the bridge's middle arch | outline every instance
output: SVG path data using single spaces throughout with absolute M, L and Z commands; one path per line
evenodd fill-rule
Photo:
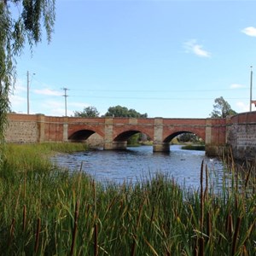
M 108 108 L 108 112 L 105 113 L 105 116 L 147 118 L 148 113 L 138 113 L 135 109 L 128 109 L 126 107 L 121 107 L 118 105 Z

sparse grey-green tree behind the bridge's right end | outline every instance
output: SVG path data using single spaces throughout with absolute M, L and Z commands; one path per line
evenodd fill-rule
M 213 110 L 211 118 L 225 118 L 228 115 L 236 114 L 236 111 L 230 107 L 230 104 L 226 102 L 223 96 L 220 96 L 214 100 L 215 104 L 213 104 Z

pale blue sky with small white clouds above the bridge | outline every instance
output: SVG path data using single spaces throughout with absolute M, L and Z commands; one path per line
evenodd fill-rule
M 253 0 L 56 0 L 51 42 L 43 35 L 16 59 L 11 109 L 27 113 L 28 87 L 29 113 L 50 116 L 66 114 L 65 99 L 68 116 L 120 105 L 150 118 L 207 118 L 220 96 L 246 112 L 255 9 Z

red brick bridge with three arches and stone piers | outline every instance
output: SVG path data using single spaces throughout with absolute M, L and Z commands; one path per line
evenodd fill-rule
M 256 156 L 256 112 L 227 119 L 73 118 L 44 114 L 9 114 L 8 143 L 84 142 L 92 134 L 102 137 L 104 149 L 125 149 L 127 139 L 143 132 L 153 141 L 154 152 L 167 152 L 172 138 L 183 132 L 201 137 L 208 155 L 226 145 L 236 158 Z

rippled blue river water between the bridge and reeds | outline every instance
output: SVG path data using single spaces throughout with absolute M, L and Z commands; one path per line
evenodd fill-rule
M 201 162 L 204 160 L 210 172 L 222 172 L 222 164 L 217 159 L 209 159 L 204 151 L 183 150 L 171 146 L 169 154 L 153 153 L 150 146 L 132 147 L 127 151 L 96 150 L 74 154 L 61 154 L 52 159 L 57 165 L 71 171 L 89 173 L 97 181 L 115 183 L 135 183 L 153 177 L 156 172 L 174 177 L 177 183 L 198 188 L 200 184 Z

